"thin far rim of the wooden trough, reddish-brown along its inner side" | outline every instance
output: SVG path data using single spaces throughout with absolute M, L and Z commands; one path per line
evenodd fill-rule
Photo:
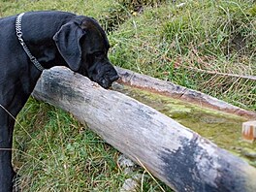
M 128 85 L 147 89 L 172 98 L 178 98 L 180 100 L 188 101 L 199 106 L 205 106 L 210 109 L 238 114 L 240 116 L 245 116 L 251 119 L 256 118 L 256 112 L 250 112 L 240 109 L 239 107 L 218 100 L 200 91 L 192 90 L 170 81 L 157 80 L 155 78 L 144 76 L 130 70 L 118 67 L 116 67 L 115 69 L 120 75 L 121 81 Z

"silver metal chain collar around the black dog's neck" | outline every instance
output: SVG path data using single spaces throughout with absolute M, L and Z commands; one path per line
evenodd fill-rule
M 43 71 L 45 68 L 38 62 L 38 60 L 36 59 L 36 57 L 34 57 L 29 48 L 27 48 L 24 40 L 22 39 L 22 31 L 21 31 L 21 19 L 22 16 L 24 15 L 24 13 L 16 16 L 16 37 L 20 43 L 20 45 L 22 46 L 22 48 L 25 50 L 27 56 L 29 57 L 30 61 L 36 66 L 36 68 L 39 71 Z

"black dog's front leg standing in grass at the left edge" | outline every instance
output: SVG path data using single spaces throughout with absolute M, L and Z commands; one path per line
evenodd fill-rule
M 0 109 L 0 192 L 13 191 L 16 173 L 12 166 L 12 143 L 15 120 Z

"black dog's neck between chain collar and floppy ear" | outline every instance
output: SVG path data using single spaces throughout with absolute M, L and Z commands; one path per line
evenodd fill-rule
M 28 16 L 30 16 L 29 19 Z M 32 12 L 26 13 L 22 18 L 23 39 L 27 47 L 45 69 L 57 65 L 68 66 L 60 55 L 52 37 L 63 24 L 73 19 L 75 15 L 62 13 L 62 16 L 60 16 L 59 12 L 56 12 L 56 16 L 54 16 L 52 12 L 50 14 L 44 12 L 44 19 L 51 23 L 48 28 L 39 23 L 41 16 L 40 13 Z

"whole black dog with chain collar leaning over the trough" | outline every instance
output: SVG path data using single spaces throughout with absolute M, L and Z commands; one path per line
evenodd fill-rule
M 33 91 L 41 68 L 64 65 L 108 88 L 118 79 L 107 57 L 109 48 L 105 32 L 91 17 L 32 12 L 0 18 L 0 192 L 13 188 L 14 117 Z M 35 60 L 42 66 L 37 68 Z

